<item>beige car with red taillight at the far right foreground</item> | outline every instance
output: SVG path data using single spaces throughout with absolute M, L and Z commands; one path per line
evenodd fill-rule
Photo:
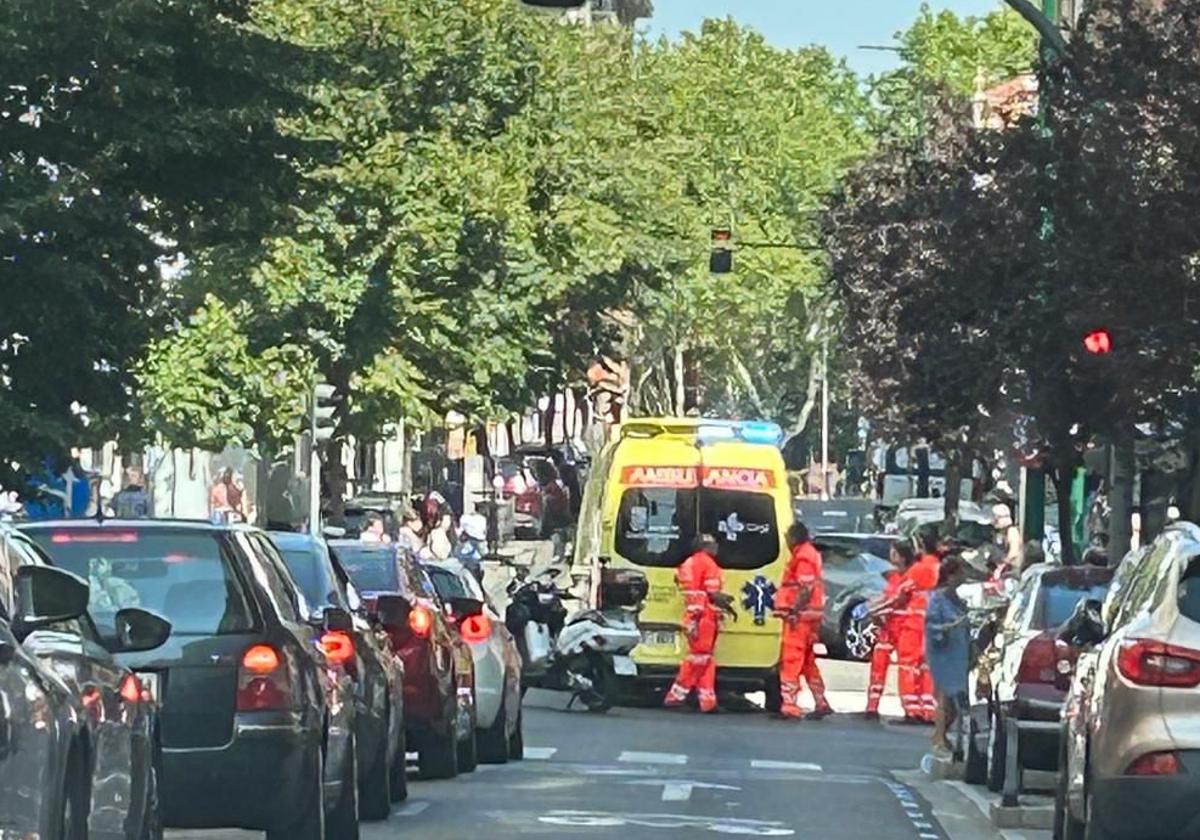
M 1056 830 L 1200 836 L 1200 528 L 1168 527 L 1117 576 L 1069 628 L 1090 648 L 1063 713 Z

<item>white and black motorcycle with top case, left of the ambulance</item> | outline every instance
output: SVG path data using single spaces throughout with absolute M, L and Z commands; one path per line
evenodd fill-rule
M 521 650 L 522 689 L 570 691 L 589 712 L 617 702 L 619 678 L 634 677 L 630 653 L 641 642 L 637 613 L 646 600 L 646 575 L 636 569 L 601 568 L 600 605 L 568 617 L 564 601 L 580 600 L 559 588 L 562 569 L 509 583 L 505 625 Z

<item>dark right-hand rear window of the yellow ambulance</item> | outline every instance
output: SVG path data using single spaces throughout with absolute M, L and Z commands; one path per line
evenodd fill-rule
M 716 562 L 722 569 L 761 569 L 779 558 L 775 499 L 766 493 L 704 488 L 700 528 L 720 544 Z

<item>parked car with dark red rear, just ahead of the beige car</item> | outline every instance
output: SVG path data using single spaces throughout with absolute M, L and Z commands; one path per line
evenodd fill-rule
M 1060 631 L 1080 602 L 1104 598 L 1111 581 L 1112 570 L 1098 566 L 1039 563 L 1021 575 L 968 679 L 967 781 L 986 781 L 996 792 L 1004 787 L 1010 728 L 1016 731 L 1018 774 L 1054 769 L 1060 714 L 1079 655 Z M 1018 787 L 1019 781 L 1018 775 Z

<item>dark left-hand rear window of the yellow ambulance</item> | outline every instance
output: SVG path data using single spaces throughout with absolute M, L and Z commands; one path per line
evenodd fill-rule
M 696 539 L 695 488 L 631 487 L 620 497 L 617 553 L 642 566 L 673 568 Z

